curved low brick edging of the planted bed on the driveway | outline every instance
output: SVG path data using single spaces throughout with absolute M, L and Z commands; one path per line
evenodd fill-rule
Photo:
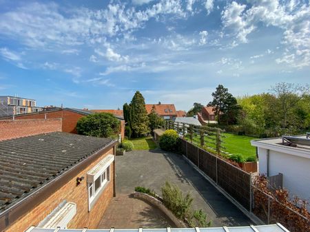
M 141 192 L 134 192 L 134 194 L 132 194 L 132 196 L 134 198 L 139 199 L 139 200 L 145 200 L 149 204 L 152 204 L 155 207 L 157 207 L 158 209 L 161 209 L 161 211 L 163 211 L 163 213 L 165 213 L 165 215 L 170 220 L 172 220 L 172 222 L 174 222 L 174 224 L 176 224 L 176 227 L 187 228 L 187 225 L 184 222 L 182 222 L 181 220 L 178 220 L 178 218 L 176 218 L 176 216 L 174 216 L 172 211 L 167 209 L 167 207 L 165 207 L 165 205 L 163 205 L 163 202 L 161 202 L 160 200 L 154 198 L 153 196 L 149 196 L 148 194 L 143 194 Z

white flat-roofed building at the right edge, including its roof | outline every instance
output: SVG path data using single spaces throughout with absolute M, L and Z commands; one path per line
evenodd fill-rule
M 283 174 L 282 186 L 290 197 L 310 202 L 310 137 L 295 136 L 251 141 L 257 147 L 259 172 L 267 176 Z

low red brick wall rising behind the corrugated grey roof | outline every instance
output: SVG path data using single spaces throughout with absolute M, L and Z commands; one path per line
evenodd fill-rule
M 54 131 L 61 131 L 61 126 L 61 119 L 1 120 L 0 141 Z

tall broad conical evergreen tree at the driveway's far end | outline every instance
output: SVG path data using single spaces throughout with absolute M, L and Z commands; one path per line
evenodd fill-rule
M 130 127 L 134 137 L 141 137 L 149 132 L 149 117 L 145 109 L 145 100 L 143 95 L 136 91 L 132 102 L 130 103 Z

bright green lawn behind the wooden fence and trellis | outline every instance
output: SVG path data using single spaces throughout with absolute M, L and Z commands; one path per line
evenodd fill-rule
M 244 135 L 233 135 L 229 133 L 223 133 L 222 135 L 224 142 L 222 143 L 222 146 L 225 147 L 223 151 L 231 154 L 241 154 L 245 157 L 245 159 L 249 156 L 256 156 L 256 148 L 251 146 L 250 141 L 257 138 Z M 194 142 L 200 144 L 200 137 L 195 136 Z M 216 147 L 215 144 L 208 143 L 207 139 L 205 139 L 205 144 L 211 148 Z

